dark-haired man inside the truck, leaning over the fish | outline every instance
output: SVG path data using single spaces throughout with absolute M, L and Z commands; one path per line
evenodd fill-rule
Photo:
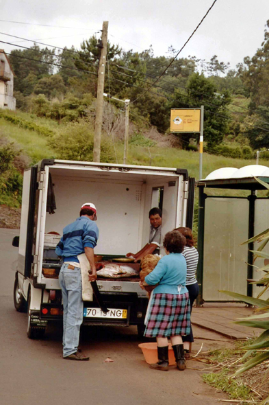
M 138 253 L 127 253 L 126 255 L 127 257 L 133 257 L 135 263 L 146 255 L 159 255 L 162 233 L 162 210 L 158 207 L 151 208 L 149 211 L 149 222 L 151 224 L 149 243 L 147 243 Z

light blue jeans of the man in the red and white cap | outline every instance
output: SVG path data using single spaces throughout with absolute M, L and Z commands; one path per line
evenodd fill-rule
M 64 263 L 59 274 L 64 304 L 64 334 L 62 337 L 64 357 L 77 351 L 80 325 L 83 321 L 81 271 L 79 267 L 71 269 L 68 266 L 67 263 Z

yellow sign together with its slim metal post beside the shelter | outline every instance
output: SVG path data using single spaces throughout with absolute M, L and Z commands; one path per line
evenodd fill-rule
M 199 178 L 203 168 L 203 106 L 201 108 L 172 108 L 170 115 L 170 132 L 200 133 Z

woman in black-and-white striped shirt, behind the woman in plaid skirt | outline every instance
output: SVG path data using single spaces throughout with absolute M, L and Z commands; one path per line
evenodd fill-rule
M 198 297 L 199 287 L 196 280 L 196 270 L 198 265 L 198 252 L 194 248 L 194 240 L 192 236 L 192 231 L 190 228 L 177 228 L 175 231 L 179 231 L 186 238 L 186 245 L 183 250 L 183 256 L 185 257 L 187 263 L 187 279 L 186 287 L 189 291 L 190 296 L 190 311 L 192 311 L 192 305 L 194 300 Z M 190 358 L 190 351 L 192 349 L 192 342 L 194 341 L 192 334 L 192 327 L 190 327 L 190 334 L 187 336 L 182 336 L 185 358 Z

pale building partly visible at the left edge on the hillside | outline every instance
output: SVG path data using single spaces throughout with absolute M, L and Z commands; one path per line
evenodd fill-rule
M 0 49 L 0 108 L 16 110 L 16 98 L 13 97 L 14 71 L 5 51 Z

